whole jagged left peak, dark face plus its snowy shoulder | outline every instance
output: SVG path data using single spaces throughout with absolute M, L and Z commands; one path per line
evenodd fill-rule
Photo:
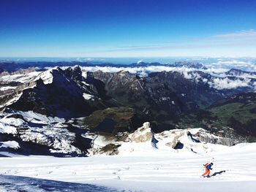
M 83 83 L 84 78 L 79 67 L 64 71 L 52 69 L 45 73 L 51 78 L 50 82 L 45 82 L 41 74 L 35 80 L 34 86 L 23 90 L 18 101 L 8 107 L 14 110 L 32 110 L 59 118 L 86 116 L 105 107 L 97 96 L 91 96 L 90 93 L 94 91 Z M 93 101 L 88 96 L 94 97 Z

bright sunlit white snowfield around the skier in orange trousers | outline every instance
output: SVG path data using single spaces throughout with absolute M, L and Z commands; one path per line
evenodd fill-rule
M 256 143 L 239 144 L 204 154 L 151 148 L 145 154 L 89 158 L 15 156 L 0 158 L 0 173 L 102 185 L 118 191 L 250 192 L 256 188 L 255 147 Z M 203 164 L 211 158 L 212 176 L 200 177 Z

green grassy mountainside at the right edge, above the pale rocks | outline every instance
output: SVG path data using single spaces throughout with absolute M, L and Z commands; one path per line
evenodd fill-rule
M 181 127 L 202 127 L 230 138 L 243 136 L 254 142 L 256 137 L 256 93 L 240 93 L 222 99 L 205 110 L 181 118 Z

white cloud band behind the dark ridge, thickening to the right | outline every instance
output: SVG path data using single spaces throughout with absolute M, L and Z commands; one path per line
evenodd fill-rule
M 212 88 L 234 89 L 251 87 L 256 90 L 256 74 L 244 73 L 241 74 L 226 74 L 230 69 L 243 68 L 256 69 L 255 64 L 245 61 L 219 61 L 217 63 L 208 64 L 208 69 L 195 69 L 187 66 L 135 66 L 135 67 L 113 67 L 113 66 L 83 66 L 83 74 L 86 72 L 120 72 L 127 71 L 131 74 L 138 74 L 140 77 L 146 77 L 153 72 L 179 72 L 184 78 L 194 80 L 195 82 L 208 83 Z M 200 72 L 210 74 L 211 78 L 201 77 Z

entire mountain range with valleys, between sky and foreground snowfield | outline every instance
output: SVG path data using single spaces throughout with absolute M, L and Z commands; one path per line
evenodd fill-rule
M 145 122 L 155 133 L 200 127 L 234 143 L 255 141 L 255 72 L 217 73 L 186 62 L 49 66 L 54 65 L 61 67 L 1 65 L 0 138 L 19 146 L 1 150 L 86 155 L 93 140 L 89 133 L 118 138 Z M 106 67 L 121 70 L 98 70 Z M 161 67 L 168 70 L 148 70 Z

